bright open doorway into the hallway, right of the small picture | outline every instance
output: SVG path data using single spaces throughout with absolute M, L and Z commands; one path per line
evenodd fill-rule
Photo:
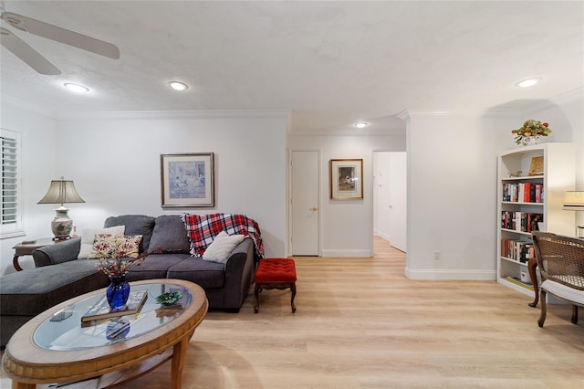
M 407 170 L 405 152 L 373 152 L 373 233 L 405 252 Z

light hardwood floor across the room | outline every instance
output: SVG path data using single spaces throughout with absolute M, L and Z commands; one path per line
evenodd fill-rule
M 289 290 L 210 311 L 187 351 L 183 388 L 581 388 L 584 328 L 568 306 L 546 325 L 495 281 L 414 281 L 382 239 L 375 258 L 295 258 Z M 584 323 L 584 312 L 581 313 Z M 164 365 L 124 388 L 167 388 Z M 9 381 L 5 377 L 2 387 Z

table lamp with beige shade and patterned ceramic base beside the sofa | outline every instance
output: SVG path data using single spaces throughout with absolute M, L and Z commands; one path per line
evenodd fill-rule
M 68 239 L 73 229 L 73 220 L 69 219 L 68 208 L 63 206 L 65 203 L 85 203 L 81 196 L 75 190 L 73 181 L 60 180 L 51 181 L 47 190 L 47 195 L 41 198 L 38 204 L 60 204 L 55 212 L 57 216 L 51 222 L 54 240 Z

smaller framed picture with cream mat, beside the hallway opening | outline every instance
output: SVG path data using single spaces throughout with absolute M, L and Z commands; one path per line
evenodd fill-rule
M 363 160 L 330 160 L 330 198 L 360 200 L 363 198 Z

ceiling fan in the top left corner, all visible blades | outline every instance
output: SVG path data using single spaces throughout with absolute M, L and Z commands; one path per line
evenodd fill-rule
M 65 28 L 49 25 L 31 17 L 5 12 L 3 3 L 0 3 L 0 19 L 20 31 L 82 48 L 108 58 L 120 58 L 120 49 L 111 43 Z M 47 75 L 61 74 L 61 70 L 50 63 L 47 58 L 41 56 L 33 47 L 28 46 L 24 40 L 16 37 L 14 33 L 2 26 L 0 26 L 0 43 L 38 73 Z

